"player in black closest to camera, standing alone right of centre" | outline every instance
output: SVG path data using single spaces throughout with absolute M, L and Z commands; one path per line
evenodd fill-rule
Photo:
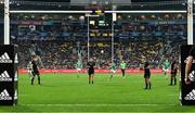
M 145 89 L 151 89 L 151 70 L 148 62 L 145 62 L 144 64 L 144 78 L 145 78 Z

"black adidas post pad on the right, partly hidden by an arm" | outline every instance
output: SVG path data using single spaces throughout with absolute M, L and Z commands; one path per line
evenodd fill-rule
M 187 62 L 190 62 L 188 58 L 195 54 L 192 49 L 193 46 L 182 46 L 180 51 L 180 101 L 182 105 L 195 105 L 195 59 L 192 60 L 192 66 L 187 66 Z M 188 73 L 186 73 L 187 71 Z

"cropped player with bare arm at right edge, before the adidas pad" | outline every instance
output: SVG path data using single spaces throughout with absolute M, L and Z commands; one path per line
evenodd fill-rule
M 185 84 L 191 84 L 195 81 L 195 47 L 190 50 L 188 56 L 186 59 L 186 66 L 185 66 Z

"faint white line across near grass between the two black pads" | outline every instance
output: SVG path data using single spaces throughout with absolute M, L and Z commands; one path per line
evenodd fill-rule
M 24 106 L 159 106 L 169 105 L 176 106 L 178 104 L 18 104 Z

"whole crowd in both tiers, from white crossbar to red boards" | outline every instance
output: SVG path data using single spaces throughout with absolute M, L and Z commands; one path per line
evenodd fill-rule
M 12 18 L 12 41 L 21 48 L 20 68 L 26 68 L 32 52 L 40 55 L 46 68 L 75 68 L 78 51 L 83 67 L 89 55 L 95 60 L 96 68 L 109 68 L 110 41 L 90 38 L 88 53 L 84 15 L 21 14 Z M 122 60 L 128 68 L 142 68 L 148 61 L 152 68 L 160 68 L 166 59 L 179 59 L 180 46 L 186 43 L 186 29 L 184 14 L 118 14 L 114 62 L 118 68 Z

